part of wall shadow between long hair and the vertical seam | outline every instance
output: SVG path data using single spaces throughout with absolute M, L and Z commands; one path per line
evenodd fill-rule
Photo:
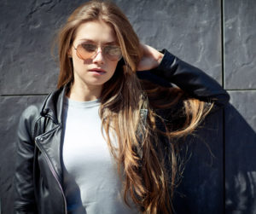
M 223 110 L 210 113 L 201 128 L 195 131 L 195 136 L 186 139 L 183 147 L 189 159 L 174 195 L 175 213 L 222 213 Z

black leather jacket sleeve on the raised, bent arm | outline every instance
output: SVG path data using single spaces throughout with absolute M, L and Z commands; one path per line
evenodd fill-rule
M 166 49 L 159 67 L 150 71 L 137 72 L 138 78 L 148 79 L 156 84 L 171 87 L 176 84 L 180 89 L 201 101 L 214 102 L 217 107 L 224 107 L 230 95 L 216 80 L 172 55 Z

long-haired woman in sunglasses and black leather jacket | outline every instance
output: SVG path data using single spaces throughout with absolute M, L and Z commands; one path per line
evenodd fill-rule
M 229 95 L 139 43 L 113 3 L 84 3 L 58 41 L 58 90 L 20 118 L 15 211 L 172 213 L 175 141 Z

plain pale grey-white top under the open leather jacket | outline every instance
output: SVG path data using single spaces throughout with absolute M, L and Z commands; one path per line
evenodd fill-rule
M 68 213 L 139 213 L 123 201 L 121 182 L 102 137 L 100 101 L 64 101 L 64 191 Z

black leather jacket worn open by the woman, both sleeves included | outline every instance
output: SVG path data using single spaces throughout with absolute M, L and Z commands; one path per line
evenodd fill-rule
M 203 101 L 222 107 L 229 101 L 225 90 L 206 73 L 164 50 L 160 66 L 137 72 L 146 78 L 181 89 Z M 65 88 L 48 95 L 43 106 L 26 108 L 20 118 L 15 171 L 15 213 L 67 213 L 62 188 L 61 118 Z M 147 111 L 142 112 L 146 117 Z

